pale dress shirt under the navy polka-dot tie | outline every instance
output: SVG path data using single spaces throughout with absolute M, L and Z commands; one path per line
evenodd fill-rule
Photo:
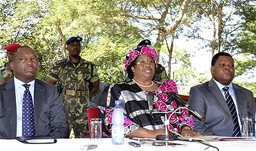
M 26 90 L 22 84 L 26 84 L 19 79 L 14 77 L 14 85 L 15 85 L 15 99 L 16 99 L 16 110 L 17 110 L 17 136 L 22 136 L 22 98 L 24 91 Z M 32 100 L 34 103 L 34 89 L 35 89 L 35 80 L 29 82 L 29 91 L 32 96 Z

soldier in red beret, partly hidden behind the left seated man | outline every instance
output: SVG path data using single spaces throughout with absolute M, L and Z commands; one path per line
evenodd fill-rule
M 10 68 L 9 62 L 12 60 L 12 54 L 20 47 L 17 43 L 12 43 L 3 49 L 6 50 L 6 55 L 8 57 L 8 62 L 0 67 L 0 84 L 7 82 L 13 78 L 12 69 Z

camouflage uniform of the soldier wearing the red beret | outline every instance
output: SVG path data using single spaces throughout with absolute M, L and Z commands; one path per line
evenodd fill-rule
M 9 62 L 6 62 L 3 66 L 1 66 L 0 70 L 0 84 L 10 80 L 10 78 L 13 78 L 13 73 Z

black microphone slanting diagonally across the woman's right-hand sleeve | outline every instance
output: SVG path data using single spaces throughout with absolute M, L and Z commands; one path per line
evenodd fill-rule
M 202 116 L 199 113 L 197 113 L 195 110 L 190 108 L 189 104 L 186 103 L 183 99 L 181 99 L 177 94 L 175 94 L 175 92 L 169 92 L 168 96 L 170 99 L 174 99 L 178 101 L 182 106 L 185 106 L 186 108 L 188 108 L 189 113 L 191 113 L 191 115 L 193 115 L 196 119 L 201 121 Z

